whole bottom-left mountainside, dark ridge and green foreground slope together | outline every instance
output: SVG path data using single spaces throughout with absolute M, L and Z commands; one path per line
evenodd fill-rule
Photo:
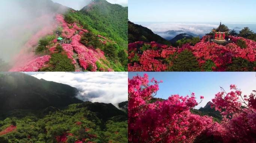
M 0 73 L 0 143 L 125 143 L 127 101 L 83 102 L 78 90 L 19 72 Z

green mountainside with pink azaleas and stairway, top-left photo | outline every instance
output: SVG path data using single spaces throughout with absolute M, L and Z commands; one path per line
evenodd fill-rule
M 52 3 L 48 0 L 43 4 Z M 106 0 L 91 1 L 81 10 L 63 7 L 56 3 L 48 7 L 57 9 L 49 14 L 54 15 L 52 25 L 27 41 L 9 71 L 128 70 L 128 7 Z

